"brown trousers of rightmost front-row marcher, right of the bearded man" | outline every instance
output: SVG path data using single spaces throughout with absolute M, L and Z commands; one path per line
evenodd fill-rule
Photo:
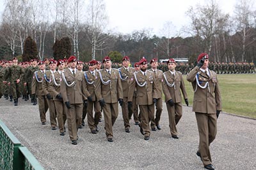
M 179 120 L 182 117 L 182 103 L 174 103 L 174 106 L 172 107 L 168 103 L 166 103 L 166 108 L 168 111 L 171 135 L 178 135 L 176 125 L 179 123 Z

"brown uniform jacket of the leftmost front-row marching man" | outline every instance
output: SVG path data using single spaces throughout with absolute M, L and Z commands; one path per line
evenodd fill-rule
M 86 96 L 90 96 L 83 81 L 83 73 L 76 71 L 76 76 L 74 76 L 69 69 L 65 69 L 61 77 L 60 90 L 64 103 L 69 101 L 70 104 L 81 104 L 87 99 Z M 68 87 L 73 82 L 74 85 Z

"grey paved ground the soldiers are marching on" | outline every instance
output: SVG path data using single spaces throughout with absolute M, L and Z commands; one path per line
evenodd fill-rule
M 122 113 L 113 127 L 114 142 L 106 140 L 104 122 L 98 134 L 88 126 L 79 129 L 78 145 L 71 145 L 68 135 L 52 131 L 47 113 L 47 125 L 41 125 L 38 106 L 20 99 L 19 106 L 0 99 L 0 119 L 22 145 L 45 169 L 204 169 L 196 157 L 198 131 L 195 113 L 184 106 L 178 131 L 179 139 L 170 138 L 168 115 L 164 104 L 161 131 L 152 132 L 145 141 L 138 126 L 131 121 L 131 132 L 124 131 Z M 120 108 L 119 108 L 120 111 Z M 211 145 L 216 169 L 256 168 L 256 120 L 221 113 L 218 134 Z

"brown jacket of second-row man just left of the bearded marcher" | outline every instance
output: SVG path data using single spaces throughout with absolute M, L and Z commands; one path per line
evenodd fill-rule
M 124 67 L 120 67 L 119 74 L 120 79 L 122 81 L 122 87 L 123 87 L 123 95 L 124 97 L 128 97 L 129 92 L 129 83 L 131 83 L 131 78 L 133 76 L 133 73 L 135 72 L 135 69 L 133 67 L 129 67 L 129 71 L 125 69 Z

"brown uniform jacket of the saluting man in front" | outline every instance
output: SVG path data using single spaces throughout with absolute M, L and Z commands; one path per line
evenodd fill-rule
M 210 76 L 200 71 L 198 66 L 194 67 L 187 76 L 187 80 L 192 83 L 195 91 L 193 100 L 193 111 L 198 113 L 216 113 L 221 111 L 221 95 L 220 86 L 217 80 L 217 74 L 209 70 Z M 200 85 L 204 87 L 205 83 L 209 83 L 205 89 L 202 89 L 196 83 L 196 76 Z

